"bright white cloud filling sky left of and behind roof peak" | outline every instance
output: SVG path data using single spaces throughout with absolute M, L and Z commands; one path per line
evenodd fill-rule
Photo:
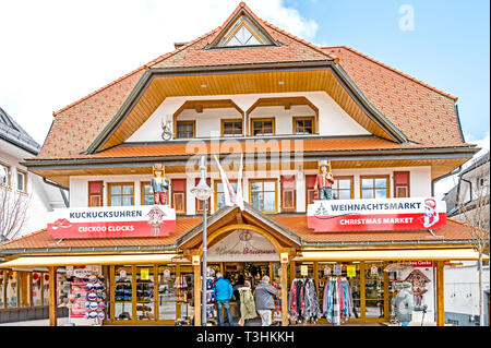
M 0 2 L 0 105 L 39 143 L 56 111 L 221 25 L 230 0 Z M 249 0 L 265 21 L 312 40 L 318 24 L 283 0 Z

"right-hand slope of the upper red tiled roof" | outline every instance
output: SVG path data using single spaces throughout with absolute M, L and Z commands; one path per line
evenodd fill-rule
M 324 47 L 373 106 L 410 141 L 426 145 L 458 146 L 456 97 L 431 87 L 349 47 Z

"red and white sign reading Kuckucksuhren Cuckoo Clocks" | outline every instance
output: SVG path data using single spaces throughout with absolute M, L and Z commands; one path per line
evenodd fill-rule
M 168 205 L 61 208 L 48 213 L 55 238 L 161 237 L 176 230 L 176 211 Z

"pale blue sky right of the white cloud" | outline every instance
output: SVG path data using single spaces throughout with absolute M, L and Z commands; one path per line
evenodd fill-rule
M 488 0 L 286 1 L 319 27 L 313 41 L 345 45 L 458 97 L 466 140 L 490 129 L 490 3 Z M 403 4 L 414 31 L 399 29 Z M 488 139 L 489 141 L 489 139 Z

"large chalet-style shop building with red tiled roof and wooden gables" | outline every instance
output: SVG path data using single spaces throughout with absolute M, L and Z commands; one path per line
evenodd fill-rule
M 314 281 L 318 322 L 328 321 L 331 277 L 351 290 L 343 322 L 388 322 L 416 268 L 424 321 L 444 325 L 445 262 L 477 259 L 467 226 L 433 199 L 434 183 L 478 151 L 456 103 L 352 48 L 307 43 L 242 2 L 216 29 L 55 112 L 25 165 L 69 188 L 70 208 L 2 244 L 0 267 L 48 267 L 51 325 L 74 274 L 89 272 L 104 278 L 103 324 L 201 325 L 205 205 L 191 189 L 205 157 L 209 274 L 233 284 L 241 274 L 252 287 L 268 275 L 275 322 L 307 320 L 289 311 L 295 279 Z M 328 201 L 315 188 L 323 161 L 334 176 Z M 165 205 L 153 205 L 156 164 L 169 181 Z M 227 205 L 218 164 L 243 208 Z M 157 213 L 164 219 L 149 226 Z M 74 309 L 72 319 L 83 316 Z

